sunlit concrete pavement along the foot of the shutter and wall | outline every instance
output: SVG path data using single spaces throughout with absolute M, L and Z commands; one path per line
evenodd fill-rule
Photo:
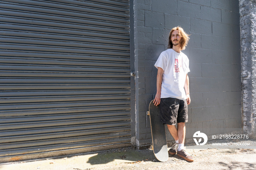
M 118 148 L 94 154 L 45 159 L 39 161 L 7 163 L 0 170 L 127 170 L 127 169 L 256 169 L 256 141 L 246 140 L 251 148 L 205 145 L 187 146 L 195 161 L 187 162 L 177 155 L 166 162 L 158 162 L 151 150 Z M 252 149 L 253 148 L 253 149 Z

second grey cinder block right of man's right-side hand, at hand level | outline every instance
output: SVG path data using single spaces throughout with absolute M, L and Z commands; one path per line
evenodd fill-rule
M 203 106 L 213 107 L 224 104 L 223 92 L 209 92 L 203 93 Z

